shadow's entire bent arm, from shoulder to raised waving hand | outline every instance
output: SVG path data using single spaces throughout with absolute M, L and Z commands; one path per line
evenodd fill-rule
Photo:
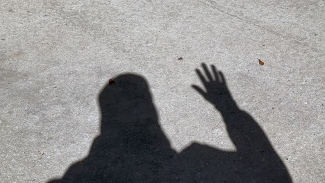
M 285 165 L 272 148 L 258 123 L 240 110 L 226 85 L 221 71 L 202 64 L 197 74 L 205 91 L 192 85 L 215 106 L 224 119 L 236 151 L 228 152 L 192 143 L 172 162 L 182 182 L 292 182 Z

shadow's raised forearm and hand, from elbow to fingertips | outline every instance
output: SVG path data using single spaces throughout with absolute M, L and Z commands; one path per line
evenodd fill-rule
M 192 87 L 222 114 L 245 174 L 248 177 L 264 177 L 267 182 L 291 182 L 285 165 L 272 148 L 265 132 L 247 112 L 240 110 L 233 100 L 223 73 L 217 71 L 213 65 L 212 72 L 208 71 L 206 64 L 202 64 L 202 67 L 206 77 L 199 69 L 196 71 L 205 91 L 197 85 Z

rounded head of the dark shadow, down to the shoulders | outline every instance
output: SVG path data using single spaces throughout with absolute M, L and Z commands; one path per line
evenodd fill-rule
M 101 134 L 116 134 L 135 144 L 156 143 L 155 139 L 165 139 L 147 80 L 126 73 L 117 76 L 114 81 L 99 94 Z

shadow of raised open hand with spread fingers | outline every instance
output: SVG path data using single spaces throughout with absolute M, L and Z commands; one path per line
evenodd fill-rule
M 212 72 L 210 72 L 206 64 L 203 63 L 201 65 L 206 77 L 203 76 L 199 69 L 195 69 L 195 71 L 197 71 L 197 75 L 201 79 L 206 91 L 197 85 L 192 85 L 192 87 L 206 98 L 207 101 L 215 105 L 220 112 L 233 108 L 235 101 L 233 101 L 233 97 L 228 90 L 222 71 L 217 71 L 216 67 L 211 65 Z

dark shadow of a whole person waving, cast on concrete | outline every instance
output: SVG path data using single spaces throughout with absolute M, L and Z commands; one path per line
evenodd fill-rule
M 222 72 L 203 64 L 193 85 L 222 114 L 236 151 L 199 143 L 176 153 L 160 128 L 142 76 L 123 74 L 99 95 L 101 134 L 88 157 L 54 182 L 292 182 L 263 130 L 239 109 Z M 190 121 L 189 121 L 190 122 Z

